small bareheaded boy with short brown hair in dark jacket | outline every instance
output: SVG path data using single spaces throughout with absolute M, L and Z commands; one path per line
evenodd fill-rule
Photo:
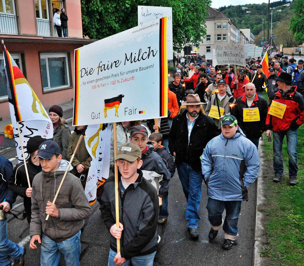
M 159 156 L 161 156 L 161 159 L 163 159 L 172 178 L 175 173 L 174 161 L 171 154 L 166 150 L 164 146 L 161 145 L 161 142 L 163 140 L 162 134 L 160 132 L 154 132 L 149 136 L 149 140 L 150 142 L 152 142 L 152 145 L 154 146 L 154 152 L 156 152 Z M 159 215 L 158 215 L 157 223 L 159 224 L 164 223 L 164 221 L 168 219 L 168 216 L 169 216 L 169 212 L 168 212 L 168 192 L 167 192 L 166 196 L 164 196 L 162 199 L 161 206 L 159 207 Z

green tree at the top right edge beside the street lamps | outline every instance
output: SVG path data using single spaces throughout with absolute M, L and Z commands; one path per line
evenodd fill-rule
M 294 1 L 294 16 L 290 20 L 290 29 L 295 34 L 295 41 L 304 43 L 304 0 Z

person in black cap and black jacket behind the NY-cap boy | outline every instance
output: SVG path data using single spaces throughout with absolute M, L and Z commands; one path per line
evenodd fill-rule
M 23 205 L 26 213 L 27 222 L 31 222 L 31 194 L 32 194 L 32 182 L 36 174 L 42 171 L 40 166 L 39 158 L 33 159 L 37 152 L 39 145 L 45 141 L 45 138 L 40 136 L 35 136 L 29 139 L 26 144 L 26 150 L 30 154 L 30 158 L 26 160 L 27 172 L 29 174 L 29 182 L 31 187 L 29 187 L 26 177 L 25 166 L 23 162 L 19 162 L 14 169 L 12 176 L 9 179 L 9 188 L 12 191 L 24 198 Z

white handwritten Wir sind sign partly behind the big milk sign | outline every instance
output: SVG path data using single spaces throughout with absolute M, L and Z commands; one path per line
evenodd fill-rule
M 167 59 L 173 59 L 172 7 L 138 5 L 138 26 L 167 17 Z

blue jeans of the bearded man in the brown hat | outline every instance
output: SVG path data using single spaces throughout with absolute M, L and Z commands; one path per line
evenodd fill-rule
M 197 228 L 197 221 L 201 220 L 199 204 L 202 195 L 202 172 L 196 172 L 185 162 L 178 166 L 177 172 L 187 199 L 186 220 L 188 227 Z

